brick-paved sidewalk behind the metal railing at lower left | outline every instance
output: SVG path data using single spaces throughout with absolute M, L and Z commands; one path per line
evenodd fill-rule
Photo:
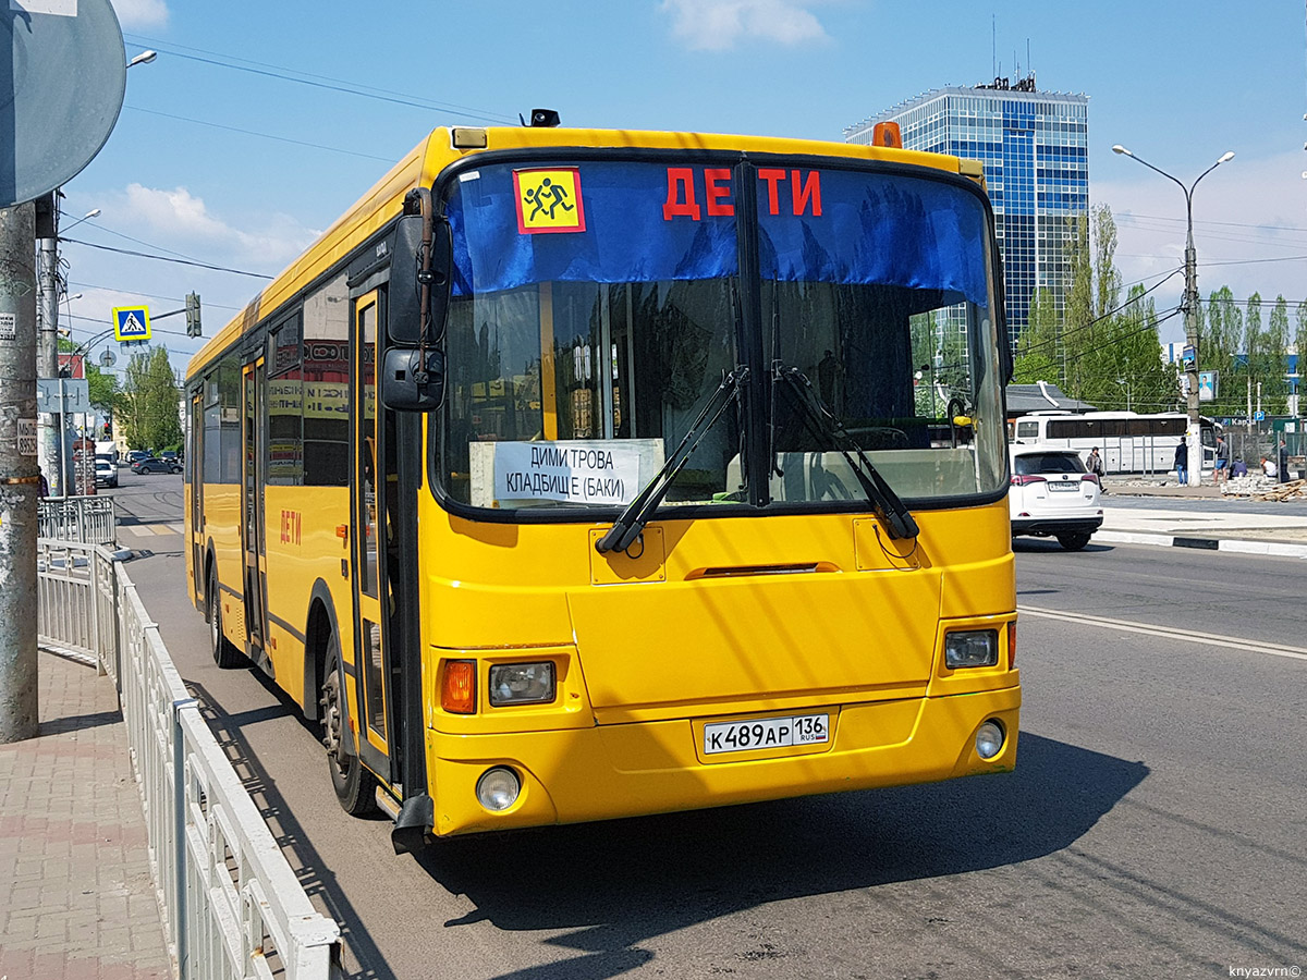
M 38 657 L 39 733 L 0 745 L 0 980 L 167 980 L 114 685 Z

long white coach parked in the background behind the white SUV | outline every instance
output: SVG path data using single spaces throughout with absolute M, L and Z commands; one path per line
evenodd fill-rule
M 1095 446 L 1108 473 L 1167 473 L 1175 469 L 1175 447 L 1189 417 L 1183 412 L 1141 416 L 1137 412 L 1031 412 L 1010 423 L 1014 443 L 1048 443 L 1076 449 L 1081 459 Z M 1202 469 L 1216 460 L 1221 426 L 1201 417 Z

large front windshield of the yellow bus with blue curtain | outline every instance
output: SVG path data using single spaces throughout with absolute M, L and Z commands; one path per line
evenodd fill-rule
M 452 504 L 625 507 L 691 429 L 664 510 L 865 510 L 850 446 L 911 507 L 1001 493 L 988 218 L 961 182 L 623 157 L 497 162 L 443 187 L 434 470 Z M 728 375 L 737 395 L 704 419 Z

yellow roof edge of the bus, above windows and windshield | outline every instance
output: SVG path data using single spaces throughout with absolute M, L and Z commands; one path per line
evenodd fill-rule
M 484 133 L 484 141 L 480 139 Z M 455 146 L 477 142 L 472 146 Z M 469 136 L 472 139 L 469 139 Z M 484 145 L 480 145 L 482 144 Z M 486 150 L 524 148 L 640 148 L 685 150 L 742 150 L 787 155 L 848 157 L 881 159 L 933 167 L 970 176 L 983 184 L 983 171 L 975 161 L 959 157 L 901 150 L 887 146 L 865 146 L 851 142 L 792 140 L 769 136 L 729 136 L 721 133 L 685 133 L 638 129 L 565 129 L 549 127 L 439 127 L 400 159 L 354 205 L 337 218 L 316 242 L 288 265 L 261 293 L 251 299 L 187 365 L 187 380 L 201 371 L 237 337 L 264 316 L 289 302 L 318 276 L 348 256 L 375 231 L 399 217 L 404 196 L 418 187 L 430 187 L 437 175 L 455 159 Z

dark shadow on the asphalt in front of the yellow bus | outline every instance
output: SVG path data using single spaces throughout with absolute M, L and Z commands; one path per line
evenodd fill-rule
M 609 977 L 650 937 L 763 903 L 1061 851 L 1148 774 L 1026 732 L 1012 775 L 455 840 L 416 860 L 476 904 L 446 926 L 572 930 L 552 942 L 582 955 L 512 977 Z

